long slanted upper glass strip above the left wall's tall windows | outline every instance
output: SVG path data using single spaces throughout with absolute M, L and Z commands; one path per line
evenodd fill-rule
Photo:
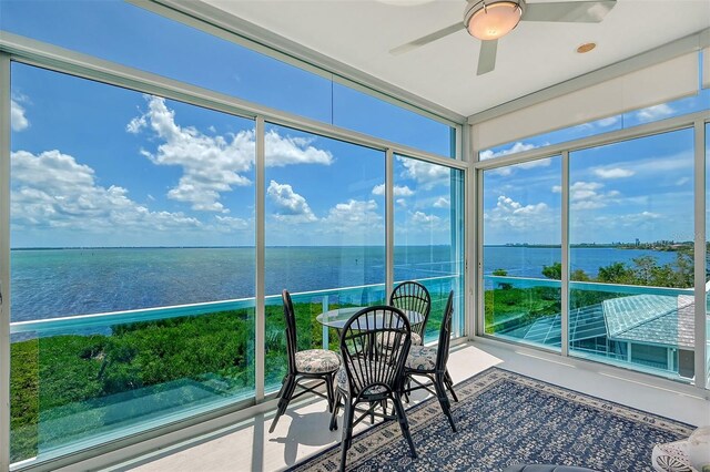
M 3 0 L 0 28 L 440 155 L 456 150 L 448 125 L 129 2 Z

